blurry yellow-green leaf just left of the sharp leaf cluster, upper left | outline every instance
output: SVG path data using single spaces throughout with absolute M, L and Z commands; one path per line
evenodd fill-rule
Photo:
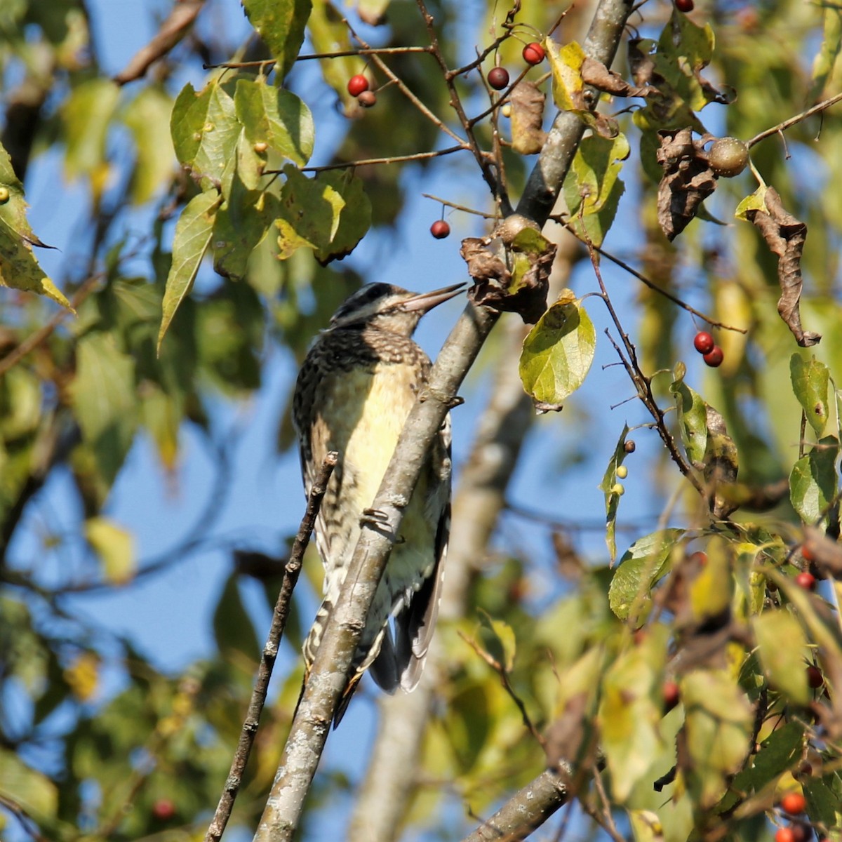
M 131 176 L 131 200 L 152 199 L 173 178 L 175 152 L 169 131 L 173 99 L 162 88 L 143 88 L 125 109 L 123 122 L 135 140 L 136 162 Z

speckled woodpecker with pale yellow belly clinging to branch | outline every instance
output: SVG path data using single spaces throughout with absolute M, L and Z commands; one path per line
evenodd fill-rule
M 464 284 L 413 293 L 367 284 L 333 313 L 301 365 L 292 401 L 301 476 L 310 493 L 331 450 L 338 461 L 317 515 L 322 605 L 302 647 L 305 682 L 348 572 L 362 521 L 398 436 L 426 385 L 429 357 L 413 341 L 418 322 Z M 367 669 L 387 693 L 418 684 L 433 635 L 450 530 L 450 414 L 436 434 L 365 621 L 333 727 Z M 303 693 L 303 687 L 302 687 Z

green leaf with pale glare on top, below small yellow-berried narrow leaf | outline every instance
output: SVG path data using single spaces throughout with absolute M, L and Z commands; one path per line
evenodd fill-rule
M 649 591 L 667 572 L 673 548 L 684 534 L 681 529 L 658 530 L 635 541 L 623 553 L 608 589 L 610 609 L 621 620 L 627 620 L 633 608 L 639 615 L 648 605 Z

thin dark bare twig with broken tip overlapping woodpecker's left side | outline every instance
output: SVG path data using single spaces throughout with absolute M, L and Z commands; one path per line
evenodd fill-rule
M 231 770 L 228 772 L 225 781 L 225 789 L 222 791 L 219 804 L 216 806 L 216 813 L 214 813 L 210 827 L 205 834 L 205 842 L 219 842 L 228 819 L 231 818 L 234 800 L 237 798 L 237 792 L 242 783 L 242 772 L 246 768 L 248 755 L 251 754 L 254 738 L 257 735 L 260 713 L 263 711 L 266 692 L 269 689 L 269 679 L 272 677 L 275 658 L 278 657 L 280 638 L 284 633 L 287 616 L 289 616 L 292 589 L 296 587 L 299 573 L 301 573 L 301 560 L 304 557 L 307 544 L 310 542 L 313 527 L 316 525 L 316 517 L 322 505 L 322 498 L 328 488 L 328 480 L 333 473 L 333 468 L 336 467 L 338 457 L 339 455 L 335 450 L 331 450 L 328 456 L 325 456 L 316 481 L 313 482 L 310 489 L 306 512 L 301 519 L 301 525 L 298 527 L 298 534 L 290 551 L 290 560 L 286 562 L 284 568 L 284 582 L 281 584 L 278 600 L 274 605 L 272 625 L 269 627 L 269 636 L 266 638 L 266 644 L 263 653 L 261 653 L 258 674 L 254 679 L 252 698 L 248 702 L 248 713 L 242 723 L 237 751 L 234 753 Z

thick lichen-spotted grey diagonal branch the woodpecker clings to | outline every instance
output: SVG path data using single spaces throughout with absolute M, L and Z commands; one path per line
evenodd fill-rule
M 600 0 L 585 40 L 587 54 L 610 64 L 631 8 L 629 0 Z M 546 222 L 552 211 L 555 197 L 573 161 L 573 153 L 583 133 L 582 125 L 576 115 L 558 115 L 536 169 L 530 176 L 519 211 L 540 225 Z M 557 162 L 552 162 L 552 158 L 557 158 Z M 430 372 L 429 386 L 419 395 L 418 402 L 409 413 L 372 504 L 372 508 L 382 514 L 382 520 L 377 524 L 366 522 L 360 532 L 360 540 L 349 565 L 346 587 L 325 629 L 287 738 L 280 769 L 254 837 L 258 842 L 291 839 L 295 832 L 304 797 L 328 738 L 333 711 L 344 690 L 354 651 L 365 626 L 365 616 L 386 568 L 392 549 L 391 536 L 397 535 L 402 511 L 412 496 L 429 445 L 497 319 L 498 313 L 488 307 L 472 303 L 466 306 Z

